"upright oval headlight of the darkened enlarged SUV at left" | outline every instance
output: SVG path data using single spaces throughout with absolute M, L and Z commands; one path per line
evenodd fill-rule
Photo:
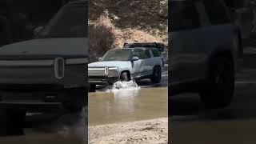
M 62 79 L 65 75 L 65 59 L 55 58 L 54 59 L 54 74 L 55 78 Z

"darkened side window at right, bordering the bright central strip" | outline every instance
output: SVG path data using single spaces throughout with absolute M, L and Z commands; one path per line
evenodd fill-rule
M 170 31 L 194 29 L 201 26 L 197 7 L 194 2 L 169 2 Z

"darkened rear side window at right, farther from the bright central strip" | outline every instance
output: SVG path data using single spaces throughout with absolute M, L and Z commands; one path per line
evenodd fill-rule
M 203 4 L 212 25 L 225 24 L 230 22 L 226 7 L 220 0 L 204 0 Z

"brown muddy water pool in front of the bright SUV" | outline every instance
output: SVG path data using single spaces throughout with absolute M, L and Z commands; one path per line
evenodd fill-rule
M 90 93 L 89 126 L 168 117 L 168 88 L 131 88 Z

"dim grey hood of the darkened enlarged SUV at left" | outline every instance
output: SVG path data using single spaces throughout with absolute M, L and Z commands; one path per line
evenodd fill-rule
M 62 56 L 88 57 L 87 38 L 44 38 L 0 47 L 1 59 L 40 59 Z

